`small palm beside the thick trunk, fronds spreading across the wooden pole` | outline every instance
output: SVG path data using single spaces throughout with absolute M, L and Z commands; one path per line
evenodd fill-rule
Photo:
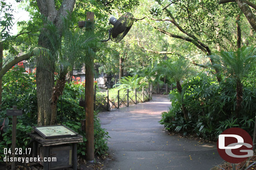
M 52 56 L 55 61 L 55 76 L 56 82 L 52 90 L 51 97 L 51 120 L 50 124 L 57 122 L 57 100 L 63 93 L 65 83 L 67 82 L 67 74 L 73 71 L 74 66 L 86 66 L 89 58 L 94 58 L 98 61 L 104 62 L 104 57 L 97 53 L 99 48 L 98 36 L 90 30 L 76 30 L 71 21 L 63 19 L 65 22 L 62 33 L 62 38 L 58 35 L 54 25 L 48 25 L 48 34 L 46 35 L 51 42 L 54 49 Z M 56 42 L 59 41 L 59 42 Z

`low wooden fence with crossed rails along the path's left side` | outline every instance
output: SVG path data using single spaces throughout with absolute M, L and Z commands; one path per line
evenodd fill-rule
M 120 90 L 115 99 L 110 99 L 109 91 L 107 96 L 96 97 L 96 86 L 94 86 L 94 110 L 99 112 L 110 111 L 111 109 L 119 109 L 120 107 L 129 107 L 130 104 L 143 103 L 152 99 L 153 86 L 135 89 L 134 91 L 125 91 L 124 96 L 120 96 Z

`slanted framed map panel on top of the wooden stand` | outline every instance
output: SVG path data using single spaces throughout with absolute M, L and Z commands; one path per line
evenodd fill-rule
M 62 124 L 52 125 L 52 126 L 38 126 L 38 127 L 34 127 L 34 129 L 44 139 L 71 137 L 71 136 L 76 136 L 78 134 L 72 129 L 69 129 L 68 127 Z

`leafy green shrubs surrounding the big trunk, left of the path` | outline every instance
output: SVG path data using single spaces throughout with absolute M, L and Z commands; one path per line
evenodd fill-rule
M 33 124 L 37 124 L 37 94 L 35 85 L 35 74 L 27 73 L 24 66 L 18 64 L 14 66 L 3 77 L 3 103 L 0 112 L 0 162 L 3 162 L 3 148 L 11 147 L 11 117 L 6 117 L 6 109 L 12 109 L 17 106 L 22 109 L 24 114 L 18 117 L 17 122 L 17 145 L 25 149 L 31 147 L 30 138 L 27 133 L 31 132 Z M 58 123 L 66 124 L 71 129 L 84 136 L 85 132 L 81 131 L 81 119 L 85 118 L 84 108 L 79 107 L 79 99 L 84 96 L 84 86 L 82 84 L 65 84 L 62 97 L 58 101 Z M 62 108 L 62 109 L 61 109 Z M 65 112 L 61 112 L 65 110 Z M 4 121 L 5 120 L 5 121 Z M 4 124 L 4 125 L 3 125 Z M 94 114 L 94 137 L 95 153 L 104 155 L 107 152 L 108 132 L 102 129 Z M 84 155 L 86 142 L 78 145 L 78 152 Z

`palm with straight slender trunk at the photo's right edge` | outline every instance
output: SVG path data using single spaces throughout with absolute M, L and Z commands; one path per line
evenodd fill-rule
M 222 51 L 219 56 L 213 57 L 219 62 L 215 66 L 222 68 L 223 73 L 236 83 L 235 114 L 239 117 L 243 102 L 243 81 L 249 71 L 256 66 L 256 48 L 244 46 L 234 52 Z

